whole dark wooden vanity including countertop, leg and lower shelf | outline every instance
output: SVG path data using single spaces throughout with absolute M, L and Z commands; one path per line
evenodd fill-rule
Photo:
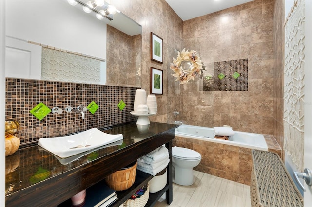
M 165 144 L 169 151 L 167 166 L 167 184 L 156 193 L 150 193 L 146 207 L 154 206 L 166 193 L 167 203 L 173 199 L 172 194 L 172 140 L 175 138 L 177 125 L 151 122 L 149 131 L 140 134 L 136 122 L 125 123 L 100 129 L 109 134 L 122 134 L 123 144 L 100 149 L 92 155 L 85 155 L 68 165 L 62 165 L 52 154 L 40 151 L 38 146 L 18 150 L 19 167 L 6 175 L 6 207 L 16 206 L 71 206 L 70 198 L 88 189 L 111 173 L 136 161 Z M 38 169 L 50 172 L 43 180 L 33 182 Z M 10 180 L 13 178 L 14 180 Z M 127 190 L 116 192 L 117 201 L 110 207 L 119 207 L 140 187 L 153 178 L 148 173 L 137 170 L 135 183 Z M 12 185 L 14 186 L 13 188 Z

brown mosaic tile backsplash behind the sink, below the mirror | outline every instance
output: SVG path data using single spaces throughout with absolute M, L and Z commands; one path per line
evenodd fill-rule
M 130 114 L 133 111 L 137 88 L 78 84 L 56 81 L 6 78 L 5 118 L 20 123 L 16 134 L 21 146 L 36 143 L 39 138 L 57 137 L 84 131 L 93 127 L 107 127 L 137 120 Z M 117 104 L 123 100 L 126 106 L 121 111 Z M 95 101 L 99 108 L 95 114 L 67 113 L 65 107 L 88 106 Z M 63 109 L 62 114 L 52 112 L 41 121 L 30 113 L 40 102 L 52 109 Z

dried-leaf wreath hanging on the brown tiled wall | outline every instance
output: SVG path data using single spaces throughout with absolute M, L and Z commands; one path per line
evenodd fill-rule
M 180 84 L 194 80 L 195 77 L 201 79 L 203 77 L 203 70 L 205 70 L 203 62 L 197 55 L 197 51 L 185 51 L 185 48 L 182 52 L 178 53 L 176 59 L 174 58 L 170 69 L 175 72 L 172 76 L 176 77 L 176 81 L 180 81 Z

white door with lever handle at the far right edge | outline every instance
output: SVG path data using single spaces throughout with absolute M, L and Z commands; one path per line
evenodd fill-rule
M 305 1 L 304 168 L 312 170 L 312 0 Z M 312 187 L 304 182 L 304 206 L 312 207 Z

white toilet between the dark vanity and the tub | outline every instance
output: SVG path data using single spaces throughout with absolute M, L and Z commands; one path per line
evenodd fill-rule
M 200 153 L 183 147 L 172 148 L 173 182 L 182 186 L 193 184 L 193 168 L 201 161 Z

